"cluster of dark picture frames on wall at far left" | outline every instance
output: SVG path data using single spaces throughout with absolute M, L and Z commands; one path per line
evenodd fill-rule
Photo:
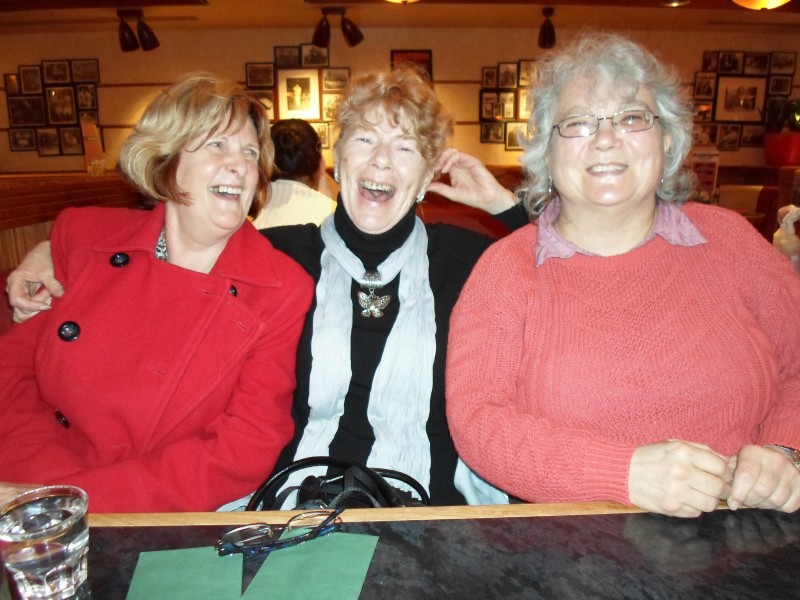
M 81 122 L 98 123 L 97 59 L 43 60 L 3 75 L 13 152 L 83 154 Z

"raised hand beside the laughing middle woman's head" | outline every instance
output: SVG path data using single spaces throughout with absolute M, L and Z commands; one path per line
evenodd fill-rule
M 511 190 L 504 188 L 484 164 L 469 154 L 448 148 L 436 163 L 436 171 L 450 175 L 450 185 L 434 181 L 428 191 L 454 202 L 496 215 L 516 204 Z

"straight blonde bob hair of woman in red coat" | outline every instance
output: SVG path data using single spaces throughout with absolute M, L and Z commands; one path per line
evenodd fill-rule
M 188 204 L 187 194 L 176 180 L 181 151 L 216 131 L 239 131 L 248 119 L 255 126 L 260 150 L 258 187 L 249 212 L 256 217 L 266 202 L 275 157 L 269 117 L 258 100 L 229 79 L 212 73 L 190 73 L 164 90 L 145 109 L 123 143 L 120 169 L 145 196 Z

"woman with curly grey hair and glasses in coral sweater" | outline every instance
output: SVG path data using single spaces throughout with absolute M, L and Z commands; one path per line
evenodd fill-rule
M 645 48 L 585 35 L 539 75 L 538 219 L 483 255 L 451 321 L 460 456 L 495 501 L 797 510 L 800 280 L 741 216 L 684 204 L 689 103 Z

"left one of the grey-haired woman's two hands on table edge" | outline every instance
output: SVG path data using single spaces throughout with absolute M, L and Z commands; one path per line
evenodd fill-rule
M 638 447 L 631 457 L 631 502 L 650 512 L 696 517 L 730 493 L 733 467 L 708 446 L 667 440 Z

